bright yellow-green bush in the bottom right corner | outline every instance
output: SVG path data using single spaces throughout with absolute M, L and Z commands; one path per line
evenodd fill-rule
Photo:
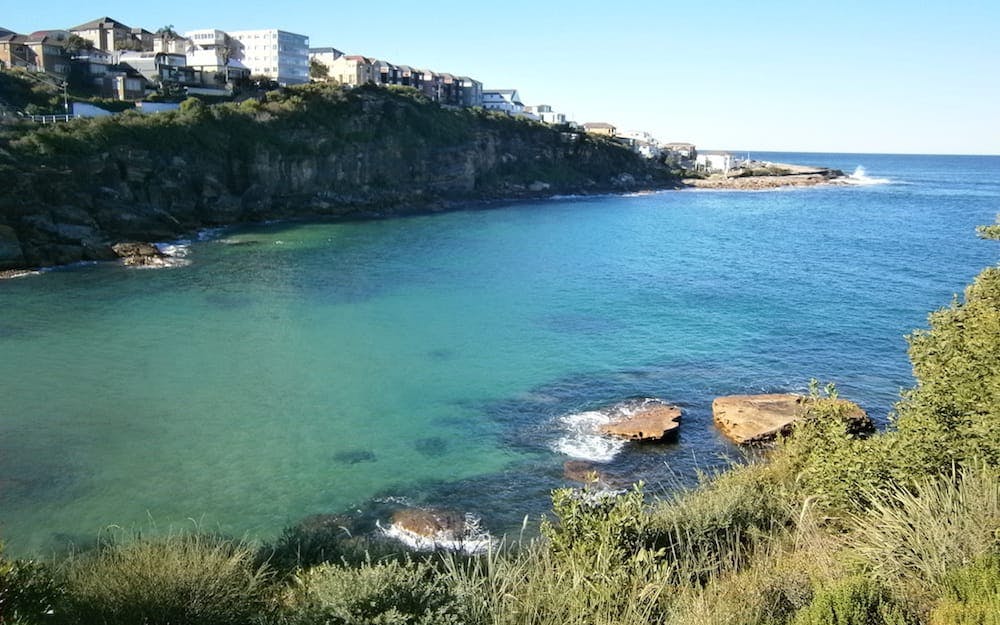
M 986 556 L 953 571 L 931 625 L 1000 625 L 1000 556 Z

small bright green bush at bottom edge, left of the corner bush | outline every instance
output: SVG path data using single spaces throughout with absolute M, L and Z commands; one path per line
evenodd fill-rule
M 793 625 L 915 625 L 916 619 L 884 586 L 865 577 L 851 577 L 816 593 L 799 611 Z

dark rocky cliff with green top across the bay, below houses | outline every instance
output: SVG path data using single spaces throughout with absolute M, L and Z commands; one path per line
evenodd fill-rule
M 9 126 L 0 270 L 115 257 L 124 240 L 270 219 L 674 186 L 617 144 L 406 89 L 306 85 L 264 101 Z

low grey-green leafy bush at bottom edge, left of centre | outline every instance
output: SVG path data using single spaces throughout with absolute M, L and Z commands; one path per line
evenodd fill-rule
M 436 625 L 460 622 L 461 612 L 433 567 L 409 561 L 307 569 L 285 603 L 293 625 Z

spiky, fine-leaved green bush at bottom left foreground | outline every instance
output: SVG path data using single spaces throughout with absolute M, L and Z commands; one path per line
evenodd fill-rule
M 64 567 L 71 623 L 246 625 L 267 612 L 266 568 L 244 543 L 181 534 L 102 545 Z

